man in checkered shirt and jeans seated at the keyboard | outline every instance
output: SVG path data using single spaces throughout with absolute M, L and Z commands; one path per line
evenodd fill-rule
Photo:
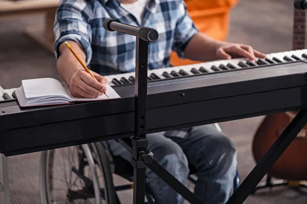
M 55 54 L 58 72 L 74 96 L 97 97 L 106 91 L 103 75 L 135 71 L 135 37 L 105 31 L 105 18 L 159 32 L 159 39 L 149 43 L 149 69 L 169 67 L 171 49 L 182 58 L 197 61 L 265 57 L 251 46 L 216 41 L 199 33 L 182 0 L 62 0 L 54 23 Z M 83 70 L 64 41 L 89 65 L 99 82 Z M 202 125 L 149 134 L 147 138 L 154 158 L 182 183 L 187 181 L 188 163 L 198 170 L 194 192 L 205 203 L 228 200 L 236 151 L 225 134 L 213 125 Z M 108 143 L 114 155 L 130 161 L 124 147 L 114 140 Z M 183 203 L 183 198 L 150 169 L 147 176 L 147 186 L 157 203 Z

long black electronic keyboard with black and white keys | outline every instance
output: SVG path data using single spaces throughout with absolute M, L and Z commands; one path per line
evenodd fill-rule
M 307 49 L 148 70 L 147 133 L 306 108 L 306 72 Z M 1 153 L 133 136 L 134 74 L 106 76 L 116 100 L 20 108 L 1 90 Z

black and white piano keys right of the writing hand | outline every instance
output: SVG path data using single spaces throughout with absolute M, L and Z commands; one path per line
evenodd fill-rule
M 159 79 L 174 79 L 185 75 L 206 74 L 210 72 L 222 72 L 225 70 L 239 70 L 259 65 L 282 64 L 289 61 L 307 60 L 307 49 L 291 50 L 267 54 L 265 59 L 255 58 L 255 62 L 247 58 L 230 60 L 218 60 L 199 64 L 167 67 L 148 70 L 148 82 Z M 135 72 L 105 76 L 110 86 L 131 84 L 135 82 Z

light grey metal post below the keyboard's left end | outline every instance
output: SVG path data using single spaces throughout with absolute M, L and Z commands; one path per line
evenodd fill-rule
M 8 158 L 0 156 L 0 203 L 10 204 L 9 164 Z

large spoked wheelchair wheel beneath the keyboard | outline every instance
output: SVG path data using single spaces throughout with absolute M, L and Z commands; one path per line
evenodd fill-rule
M 83 144 L 42 152 L 39 171 L 42 204 L 116 203 L 112 173 L 102 168 L 102 162 L 106 161 L 102 161 L 99 145 Z

